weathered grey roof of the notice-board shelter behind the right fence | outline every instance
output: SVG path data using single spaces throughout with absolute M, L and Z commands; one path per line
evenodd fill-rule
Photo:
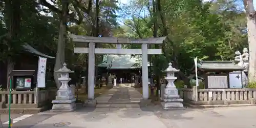
M 233 61 L 199 61 L 197 67 L 201 70 L 211 71 L 242 71 L 245 69 Z

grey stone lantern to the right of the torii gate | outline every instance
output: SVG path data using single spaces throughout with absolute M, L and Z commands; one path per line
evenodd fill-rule
M 169 63 L 169 67 L 163 71 L 166 72 L 165 79 L 167 81 L 166 87 L 163 92 L 163 97 L 161 98 L 161 105 L 163 106 L 163 109 L 184 108 L 182 104 L 183 99 L 180 98 L 178 90 L 176 89 L 176 86 L 174 84 L 174 81 L 177 79 L 174 73 L 179 71 L 180 70 L 172 67 L 172 63 Z

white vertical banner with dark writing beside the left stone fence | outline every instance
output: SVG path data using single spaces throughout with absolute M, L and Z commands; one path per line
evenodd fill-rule
M 39 56 L 36 82 L 37 88 L 46 88 L 46 60 L 47 58 Z

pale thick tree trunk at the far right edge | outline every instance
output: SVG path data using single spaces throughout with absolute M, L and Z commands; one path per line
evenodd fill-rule
M 249 45 L 249 82 L 256 82 L 256 22 L 253 0 L 244 0 Z

